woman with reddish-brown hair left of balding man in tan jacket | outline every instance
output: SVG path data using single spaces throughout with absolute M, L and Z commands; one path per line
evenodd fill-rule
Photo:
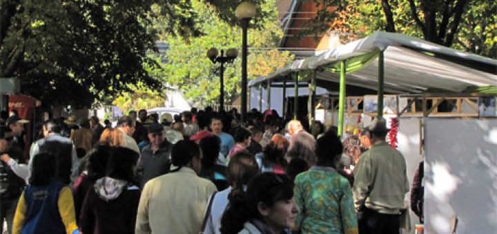
M 255 159 L 259 164 L 261 172 L 273 172 L 277 174 L 286 173 L 286 149 L 288 149 L 289 142 L 281 134 L 274 134 L 273 138 L 262 153 L 257 153 Z

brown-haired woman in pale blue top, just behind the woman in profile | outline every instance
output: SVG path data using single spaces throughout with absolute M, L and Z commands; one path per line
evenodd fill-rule
M 257 162 L 250 153 L 240 152 L 233 156 L 233 159 L 228 164 L 228 180 L 231 187 L 224 189 L 219 193 L 214 193 L 211 196 L 210 208 L 207 208 L 204 222 L 204 234 L 220 233 L 221 217 L 228 205 L 228 198 L 236 198 L 244 193 L 246 184 L 259 173 Z

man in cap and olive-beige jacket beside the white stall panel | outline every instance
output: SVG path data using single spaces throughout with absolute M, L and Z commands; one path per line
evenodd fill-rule
M 367 127 L 371 148 L 355 167 L 353 195 L 360 233 L 399 233 L 400 213 L 409 191 L 404 156 L 385 138 L 390 129 L 384 118 Z

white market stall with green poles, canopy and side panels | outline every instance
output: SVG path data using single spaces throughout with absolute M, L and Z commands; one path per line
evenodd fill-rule
M 344 114 L 360 114 L 369 112 L 364 116 L 383 116 L 386 117 L 400 117 L 404 114 L 405 118 L 399 118 L 400 126 L 398 129 L 398 149 L 405 155 L 407 159 L 409 180 L 412 181 L 414 170 L 418 166 L 418 162 L 422 160 L 420 143 L 423 137 L 422 129 L 427 129 L 431 117 L 451 117 L 447 123 L 453 123 L 449 120 L 454 120 L 454 117 L 469 118 L 487 118 L 483 121 L 487 126 L 495 126 L 497 123 L 497 113 L 495 112 L 495 98 L 497 96 L 497 61 L 491 58 L 485 58 L 476 54 L 469 54 L 460 52 L 448 47 L 436 45 L 421 39 L 416 39 L 404 34 L 394 34 L 388 32 L 376 32 L 371 36 L 364 39 L 353 41 L 345 45 L 340 45 L 331 50 L 322 52 L 317 56 L 312 56 L 304 60 L 294 61 L 293 63 L 283 67 L 273 74 L 257 78 L 249 83 L 252 87 L 271 87 L 273 83 L 282 83 L 286 85 L 287 82 L 293 84 L 299 82 L 309 83 L 310 95 L 309 98 L 315 98 L 315 89 L 317 86 L 327 88 L 330 92 L 340 92 L 338 97 L 339 104 L 336 110 L 338 114 L 338 130 L 340 136 L 344 133 L 345 116 Z M 284 89 L 284 88 L 283 88 Z M 364 101 L 367 94 L 377 95 L 376 103 L 371 105 L 373 108 L 367 109 L 369 103 Z M 384 100 L 384 94 L 392 94 L 396 96 L 395 111 L 391 114 L 384 113 L 384 108 L 388 107 L 388 103 Z M 298 94 L 295 94 L 298 96 Z M 364 96 L 362 101 L 362 111 L 352 109 L 349 99 L 346 96 Z M 268 97 L 270 97 L 268 95 Z M 273 96 L 274 97 L 274 96 Z M 285 92 L 283 91 L 283 97 Z M 276 97 L 282 98 L 282 97 Z M 479 99 L 480 98 L 480 99 Z M 481 98 L 487 98 L 485 105 L 482 105 Z M 439 111 L 439 105 L 447 103 L 448 101 L 455 103 L 456 108 L 454 111 L 442 112 Z M 349 103 L 346 108 L 346 102 Z M 311 102 L 313 103 L 313 102 Z M 357 104 L 357 103 L 355 103 Z M 417 107 L 416 107 L 417 106 Z M 310 120 L 314 120 L 314 105 L 311 104 Z M 357 106 L 355 106 L 357 107 Z M 483 107 L 483 108 L 482 108 Z M 368 107 L 369 108 L 369 107 Z M 493 108 L 493 109 L 492 109 Z M 297 110 L 298 107 L 294 107 Z M 484 109 L 487 111 L 484 117 L 482 114 Z M 491 111 L 488 111 L 488 110 Z M 371 111 L 373 110 L 373 111 Z M 376 111 L 376 114 L 374 113 Z M 355 113 L 354 113 L 355 112 Z M 296 117 L 294 115 L 294 117 Z M 424 123 L 426 120 L 426 123 Z M 364 119 L 364 125 L 368 120 Z M 443 122 L 443 121 L 442 121 Z M 480 120 L 473 120 L 474 125 L 480 126 Z M 487 123 L 488 122 L 488 123 Z M 458 124 L 454 123 L 454 126 Z M 477 138 L 466 134 L 483 134 L 487 138 L 497 138 L 496 134 L 489 134 L 494 132 L 495 127 L 487 129 L 480 128 L 480 131 L 466 131 L 465 126 L 450 127 L 447 125 L 445 129 L 433 128 L 431 134 L 427 134 L 425 142 L 445 142 L 445 144 L 433 145 L 425 149 L 425 176 L 427 183 L 433 184 L 433 178 L 440 178 L 436 172 L 429 171 L 433 168 L 433 164 L 440 164 L 447 161 L 450 164 L 450 157 L 454 156 L 454 151 L 447 151 L 447 154 L 440 156 L 438 152 L 443 152 L 447 149 L 451 142 L 446 141 L 444 136 L 466 136 L 467 138 Z M 435 130 L 437 129 L 437 130 Z M 444 131 L 445 130 L 445 131 Z M 433 131 L 438 131 L 433 133 Z M 482 132 L 483 131 L 483 132 Z M 460 139 L 460 138 L 459 138 Z M 449 140 L 449 138 L 447 138 Z M 496 139 L 490 139 L 489 142 L 497 142 Z M 489 164 L 487 154 L 485 157 L 471 157 L 473 152 L 471 149 L 478 149 L 479 152 L 497 152 L 495 144 L 480 144 L 478 148 L 472 144 L 472 141 L 465 141 L 464 139 L 454 142 L 458 147 L 468 149 L 456 155 L 456 158 L 467 158 L 472 160 L 472 165 L 476 164 Z M 436 160 L 430 158 L 433 153 L 436 153 Z M 494 160 L 491 161 L 490 172 L 497 171 L 497 164 Z M 458 164 L 458 166 L 460 166 Z M 471 170 L 474 167 L 471 167 Z M 486 167 L 487 168 L 487 167 Z M 431 173 L 431 174 L 430 174 Z M 476 175 L 470 173 L 469 175 Z M 495 207 L 497 200 L 494 195 L 489 194 L 489 191 L 494 191 L 494 184 L 497 184 L 495 176 L 489 180 L 487 187 L 492 189 L 476 190 L 476 193 L 482 193 L 477 197 L 490 196 L 491 202 L 489 205 Z M 475 178 L 467 178 L 464 175 L 458 175 L 458 181 L 465 183 L 467 181 L 474 181 Z M 444 187 L 445 184 L 438 182 L 438 187 Z M 425 224 L 428 230 L 437 233 L 449 232 L 451 226 L 447 226 L 447 217 L 456 215 L 459 218 L 459 224 L 462 225 L 460 233 L 471 233 L 471 228 L 476 230 L 495 230 L 494 221 L 489 218 L 474 222 L 470 218 L 474 215 L 475 209 L 483 209 L 482 202 L 471 202 L 475 205 L 474 209 L 462 209 L 461 202 L 464 202 L 460 194 L 467 194 L 465 189 L 474 187 L 456 187 L 456 191 L 451 191 L 444 199 L 439 199 L 436 196 L 439 194 L 437 191 L 432 191 L 435 187 L 427 187 L 425 190 L 425 200 L 427 202 L 436 202 L 439 206 L 450 209 L 425 209 L 431 212 L 426 215 Z M 440 189 L 440 188 L 435 188 Z M 442 188 L 443 190 L 443 188 Z M 452 199 L 451 195 L 458 195 L 456 199 Z M 407 198 L 407 203 L 409 198 Z M 466 202 L 471 201 L 470 198 Z M 426 203 L 425 203 L 426 204 Z M 429 203 L 430 204 L 430 203 Z M 488 204 L 488 203 L 487 203 Z M 438 206 L 437 206 L 438 207 Z M 466 207 L 467 208 L 467 207 Z M 485 209 L 483 209 L 485 210 Z M 449 212 L 450 211 L 450 212 Z M 438 212 L 438 213 L 437 213 Z M 411 217 L 413 217 L 411 215 Z M 439 223 L 440 217 L 444 222 L 441 226 L 435 226 Z M 485 217 L 488 217 L 485 216 Z M 412 219 L 412 223 L 417 219 Z M 493 229 L 489 229 L 493 228 Z

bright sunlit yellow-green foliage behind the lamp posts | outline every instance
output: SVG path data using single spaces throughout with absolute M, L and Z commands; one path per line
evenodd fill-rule
M 224 96 L 229 101 L 240 94 L 241 90 L 242 30 L 224 21 L 216 14 L 213 6 L 198 0 L 191 3 L 203 35 L 185 38 L 167 33 L 160 34 L 161 39 L 170 45 L 170 49 L 167 52 L 168 63 L 163 65 L 164 74 L 157 78 L 179 87 L 184 91 L 186 98 L 197 105 L 217 103 L 220 96 L 220 64 L 213 64 L 207 58 L 206 52 L 211 47 L 224 50 L 235 47 L 239 50 L 239 57 L 233 64 L 225 63 L 224 70 Z M 291 60 L 288 52 L 278 52 L 275 49 L 282 31 L 277 22 L 272 20 L 277 18 L 274 9 L 274 0 L 264 1 L 260 5 L 260 11 L 269 14 L 269 17 L 259 21 L 264 29 L 254 29 L 253 25 L 249 29 L 249 79 L 273 72 Z

